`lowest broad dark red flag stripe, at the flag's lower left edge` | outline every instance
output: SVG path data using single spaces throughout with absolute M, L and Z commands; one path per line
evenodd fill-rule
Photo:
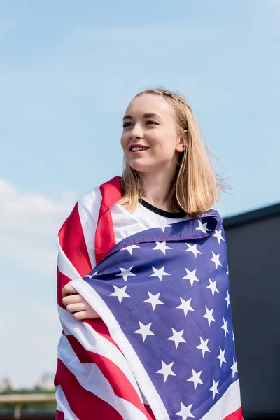
M 123 420 L 123 417 L 108 402 L 80 386 L 75 375 L 67 369 L 62 360 L 57 360 L 57 381 L 71 410 L 79 420 Z

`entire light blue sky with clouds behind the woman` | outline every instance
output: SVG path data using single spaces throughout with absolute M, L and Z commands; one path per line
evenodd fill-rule
M 232 186 L 222 216 L 280 201 L 279 21 L 278 0 L 1 1 L 0 379 L 55 371 L 55 236 L 121 173 L 137 92 L 187 97 Z

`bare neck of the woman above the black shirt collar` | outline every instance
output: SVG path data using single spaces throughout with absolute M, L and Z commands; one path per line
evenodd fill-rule
M 142 198 L 153 206 L 165 211 L 174 211 L 169 207 L 169 191 L 174 183 L 173 173 L 165 171 L 158 173 L 141 172 L 144 195 Z

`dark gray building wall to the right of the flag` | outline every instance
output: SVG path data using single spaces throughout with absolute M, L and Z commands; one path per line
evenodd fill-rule
M 280 419 L 280 204 L 224 227 L 244 419 Z

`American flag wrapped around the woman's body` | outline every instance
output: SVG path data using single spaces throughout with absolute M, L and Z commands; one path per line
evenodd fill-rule
M 241 420 L 220 216 L 209 210 L 116 244 L 118 179 L 100 189 L 97 265 L 78 206 L 59 232 L 57 419 Z M 69 281 L 101 319 L 65 310 Z

